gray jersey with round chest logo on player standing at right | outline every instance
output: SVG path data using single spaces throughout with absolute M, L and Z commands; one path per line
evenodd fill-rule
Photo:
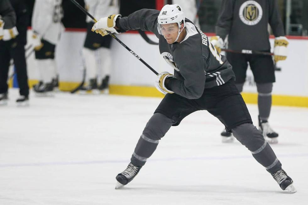
M 276 37 L 284 36 L 276 0 L 223 0 L 216 35 L 228 36 L 228 48 L 267 51 L 271 46 L 267 25 Z

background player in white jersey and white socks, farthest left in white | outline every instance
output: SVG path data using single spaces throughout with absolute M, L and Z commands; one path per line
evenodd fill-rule
M 36 0 L 32 14 L 32 43 L 39 71 L 39 83 L 33 90 L 39 95 L 52 95 L 58 87 L 55 48 L 63 30 L 62 0 Z

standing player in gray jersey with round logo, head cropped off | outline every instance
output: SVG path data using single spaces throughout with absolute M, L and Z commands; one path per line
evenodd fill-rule
M 275 35 L 274 61 L 285 60 L 287 57 L 288 39 L 284 36 L 276 0 L 223 0 L 221 13 L 216 26 L 216 35 L 211 42 L 216 49 L 223 48 L 228 35 L 228 49 L 234 51 L 254 50 L 270 52 L 270 24 Z M 275 82 L 275 69 L 271 56 L 227 53 L 227 59 L 233 67 L 235 84 L 242 92 L 246 78 L 247 62 L 258 91 L 259 129 L 267 142 L 278 143 L 278 133 L 269 125 L 272 106 L 272 87 Z M 221 133 L 223 142 L 232 142 L 231 132 Z

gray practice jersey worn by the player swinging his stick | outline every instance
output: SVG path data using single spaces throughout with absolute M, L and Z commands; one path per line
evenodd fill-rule
M 220 55 L 207 36 L 190 20 L 185 19 L 186 36 L 180 43 L 168 44 L 157 30 L 158 10 L 141 9 L 128 17 L 117 19 L 121 31 L 146 30 L 159 39 L 162 57 L 174 68 L 168 88 L 188 99 L 200 98 L 205 88 L 226 83 L 234 77 L 232 66 Z

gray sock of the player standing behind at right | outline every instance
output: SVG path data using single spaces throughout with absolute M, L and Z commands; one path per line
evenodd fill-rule
M 257 83 L 259 117 L 267 121 L 272 107 L 272 83 Z

